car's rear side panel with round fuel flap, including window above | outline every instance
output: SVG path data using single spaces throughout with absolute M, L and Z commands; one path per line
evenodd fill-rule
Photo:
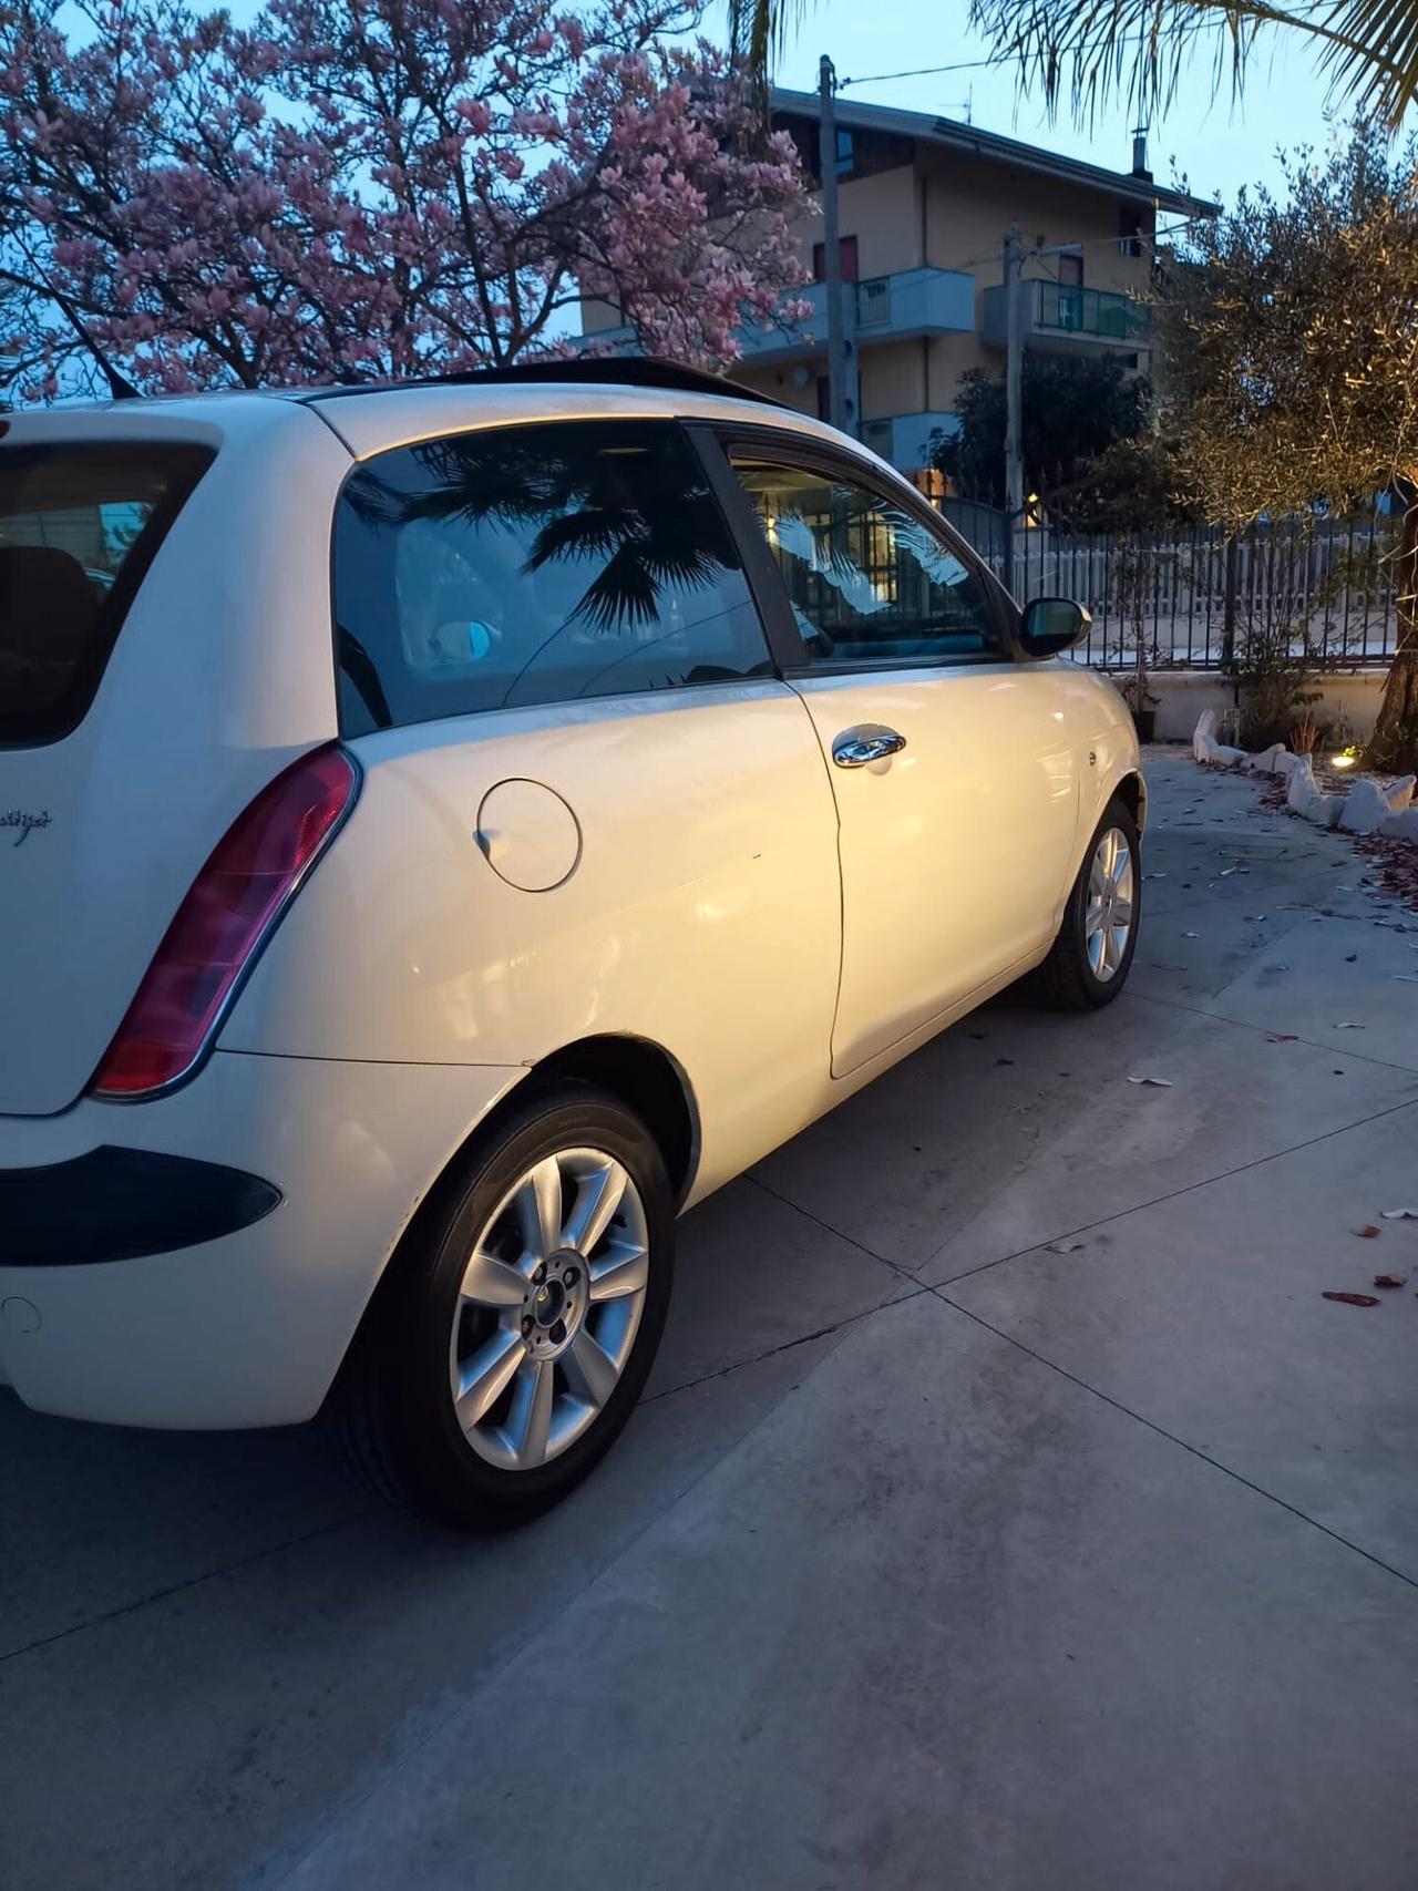
M 648 1040 L 688 1078 L 700 1189 L 821 1108 L 832 790 L 683 427 L 374 454 L 340 499 L 335 613 L 359 804 L 223 1042 L 533 1065 Z

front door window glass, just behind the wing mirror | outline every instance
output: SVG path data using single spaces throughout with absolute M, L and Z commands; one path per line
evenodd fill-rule
M 998 660 L 985 581 L 908 507 L 836 473 L 730 446 L 813 669 Z

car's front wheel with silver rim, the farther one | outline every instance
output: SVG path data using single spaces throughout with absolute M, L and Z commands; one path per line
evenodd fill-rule
M 1046 1002 L 1066 1012 L 1110 1004 L 1127 983 L 1142 913 L 1138 830 L 1108 802 L 1064 906 L 1053 949 L 1036 974 Z

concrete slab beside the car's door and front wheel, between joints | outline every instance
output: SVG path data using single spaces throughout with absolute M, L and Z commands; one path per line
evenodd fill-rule
M 940 1282 L 1418 1097 L 1418 1072 L 1267 1038 L 1131 993 L 1064 1017 L 1000 1002 L 754 1174 Z

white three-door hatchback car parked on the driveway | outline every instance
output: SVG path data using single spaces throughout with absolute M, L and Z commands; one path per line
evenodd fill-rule
M 675 1216 L 991 993 L 1104 1004 L 1146 790 L 883 461 L 664 363 L 0 420 L 0 1379 L 338 1411 L 505 1524 Z

